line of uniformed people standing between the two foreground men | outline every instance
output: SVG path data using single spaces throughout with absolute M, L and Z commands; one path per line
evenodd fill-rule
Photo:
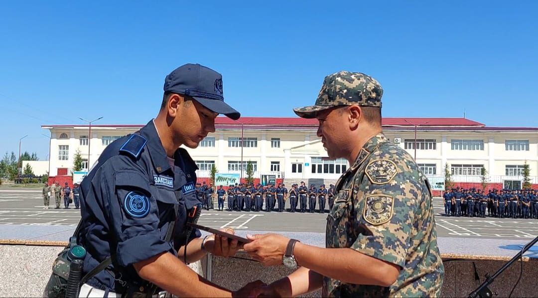
M 224 210 L 226 202 L 226 211 L 277 211 L 277 212 L 327 212 L 325 205 L 328 201 L 329 209 L 334 204 L 334 185 L 330 185 L 329 189 L 325 185 L 316 188 L 311 185 L 310 188 L 305 186 L 305 182 L 301 181 L 301 185 L 294 184 L 291 189 L 287 189 L 283 183 L 278 186 L 267 185 L 261 186 L 259 183 L 254 186 L 252 183 L 236 183 L 230 185 L 228 189 L 219 186 L 215 191 L 213 185 L 196 184 L 196 197 L 203 203 L 203 208 L 209 210 L 213 207 L 214 194 L 217 197 L 217 209 Z M 286 201 L 289 200 L 289 209 L 285 208 Z M 264 204 L 265 203 L 265 204 Z M 308 210 L 307 210 L 308 203 Z M 318 208 L 316 209 L 316 203 Z

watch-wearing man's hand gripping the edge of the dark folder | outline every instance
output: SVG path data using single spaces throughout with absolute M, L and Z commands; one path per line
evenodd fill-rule
M 264 266 L 282 264 L 282 257 L 286 253 L 289 238 L 278 234 L 247 235 L 246 238 L 253 240 L 243 245 L 243 249 Z

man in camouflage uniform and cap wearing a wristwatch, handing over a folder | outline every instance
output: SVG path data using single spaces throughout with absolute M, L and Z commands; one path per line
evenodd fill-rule
M 362 73 L 325 77 L 316 105 L 294 109 L 317 118 L 330 159 L 351 167 L 336 182 L 326 249 L 281 235 L 249 236 L 244 249 L 264 265 L 300 267 L 250 295 L 284 297 L 323 288 L 322 296 L 439 296 L 444 267 L 431 190 L 413 158 L 381 129 L 383 89 Z

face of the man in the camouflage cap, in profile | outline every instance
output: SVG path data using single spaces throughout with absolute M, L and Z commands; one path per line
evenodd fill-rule
M 348 120 L 346 113 L 339 113 L 338 108 L 331 108 L 317 113 L 320 124 L 317 136 L 321 138 L 323 147 L 327 150 L 329 159 L 345 158 L 348 141 Z

